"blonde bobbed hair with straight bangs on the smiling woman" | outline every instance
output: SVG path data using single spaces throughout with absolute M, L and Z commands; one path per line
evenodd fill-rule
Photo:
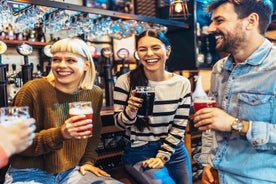
M 84 78 L 80 83 L 80 87 L 81 89 L 92 89 L 96 78 L 96 69 L 92 54 L 90 53 L 87 44 L 80 38 L 64 38 L 53 44 L 51 53 L 55 54 L 56 52 L 71 52 L 74 54 L 79 54 L 90 62 L 90 68 L 85 72 Z M 50 71 L 46 78 L 49 81 L 55 80 L 52 71 Z

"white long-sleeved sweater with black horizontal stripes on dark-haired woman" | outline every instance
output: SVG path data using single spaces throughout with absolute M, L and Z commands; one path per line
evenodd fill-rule
M 167 157 L 174 153 L 182 141 L 191 104 L 191 86 L 187 78 L 174 74 L 165 81 L 149 81 L 155 88 L 153 116 L 149 128 L 139 131 L 134 125 L 136 113 L 127 107 L 130 94 L 129 74 L 121 75 L 114 88 L 114 119 L 117 127 L 124 129 L 131 146 L 141 146 L 149 141 L 164 139 L 156 157 Z

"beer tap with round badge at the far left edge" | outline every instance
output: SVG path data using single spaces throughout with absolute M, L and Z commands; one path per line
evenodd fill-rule
M 8 106 L 7 95 L 7 65 L 2 63 L 2 54 L 7 50 L 7 45 L 0 41 L 0 93 L 3 94 L 0 98 L 0 107 Z

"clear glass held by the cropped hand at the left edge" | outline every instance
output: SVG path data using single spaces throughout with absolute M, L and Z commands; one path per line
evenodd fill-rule
M 30 118 L 28 106 L 9 106 L 0 108 L 0 122 L 4 126 L 11 126 L 19 121 L 22 121 L 22 119 L 28 118 Z

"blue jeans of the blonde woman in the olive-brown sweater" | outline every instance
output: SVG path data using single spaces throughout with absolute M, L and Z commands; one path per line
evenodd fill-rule
M 36 168 L 9 168 L 5 184 L 17 182 L 20 184 L 25 182 L 28 184 L 122 184 L 111 177 L 98 177 L 89 171 L 83 176 L 78 166 L 57 174 L 50 174 Z

